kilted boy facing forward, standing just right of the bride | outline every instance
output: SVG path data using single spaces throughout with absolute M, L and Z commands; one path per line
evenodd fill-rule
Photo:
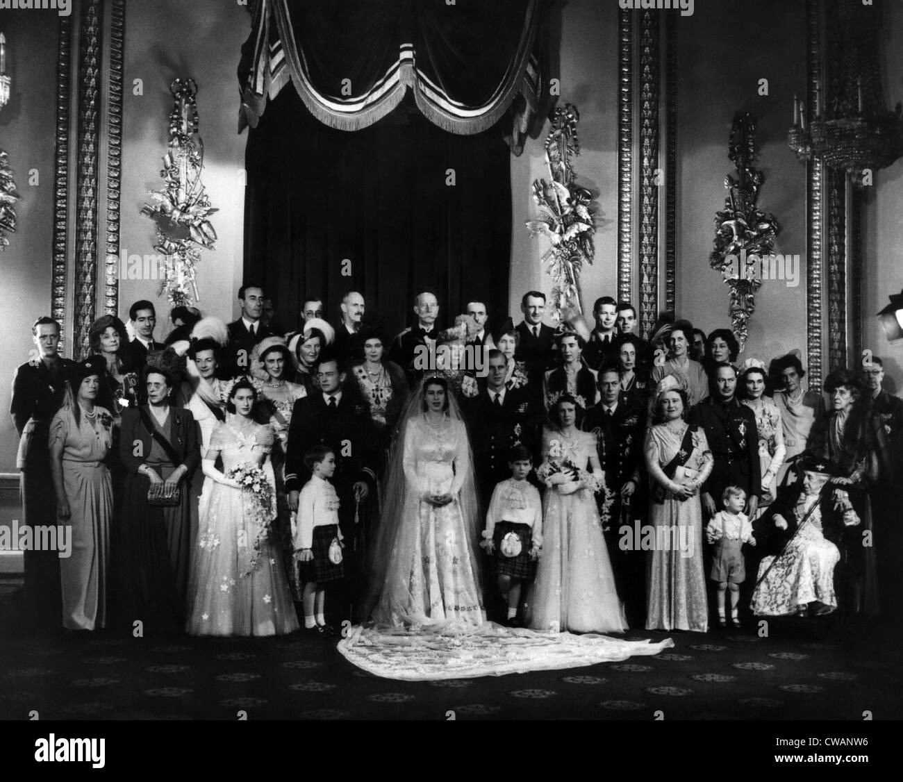
M 506 624 L 517 628 L 521 584 L 533 581 L 543 545 L 543 503 L 539 490 L 526 480 L 532 463 L 525 445 L 511 448 L 508 469 L 511 478 L 496 485 L 489 501 L 483 545 L 493 558 L 498 591 L 507 602 Z

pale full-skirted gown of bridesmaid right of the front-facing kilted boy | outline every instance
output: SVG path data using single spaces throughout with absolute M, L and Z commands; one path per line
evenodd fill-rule
M 591 432 L 564 437 L 546 429 L 544 459 L 554 442 L 563 448 L 562 458 L 581 470 L 587 469 L 596 452 L 596 435 Z M 529 626 L 537 630 L 618 633 L 627 629 L 591 489 L 573 494 L 546 489 L 543 553 L 526 611 Z

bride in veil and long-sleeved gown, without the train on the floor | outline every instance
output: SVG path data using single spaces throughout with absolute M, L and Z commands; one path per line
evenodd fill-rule
M 377 561 L 386 548 L 388 555 L 373 619 L 387 627 L 479 626 L 486 617 L 467 430 L 444 377 L 424 379 L 418 396 L 421 412 L 400 434 L 405 485 L 390 489 L 403 495 L 401 514 L 394 534 L 377 544 Z M 396 503 L 387 497 L 383 523 L 391 523 Z

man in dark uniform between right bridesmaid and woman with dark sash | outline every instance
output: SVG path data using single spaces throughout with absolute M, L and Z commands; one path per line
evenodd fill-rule
M 618 582 L 625 599 L 628 622 L 640 623 L 645 616 L 645 556 L 641 551 L 623 551 L 619 547 L 620 527 L 633 525 L 645 516 L 645 503 L 637 501 L 640 467 L 643 462 L 643 434 L 646 431 L 642 405 L 620 398 L 620 379 L 615 368 L 599 373 L 600 402 L 591 408 L 583 429 L 596 433 L 599 463 L 605 473 L 606 491 L 596 496 L 602 528 Z

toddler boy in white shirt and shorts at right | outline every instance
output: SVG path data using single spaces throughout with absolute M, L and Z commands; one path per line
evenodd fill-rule
M 729 486 L 721 495 L 720 510 L 705 527 L 709 543 L 715 545 L 712 556 L 712 572 L 709 578 L 718 582 L 718 624 L 727 627 L 724 616 L 724 592 L 731 588 L 731 624 L 740 627 L 740 616 L 737 603 L 740 601 L 740 584 L 746 581 L 746 568 L 743 565 L 743 553 L 740 550 L 744 543 L 756 545 L 752 536 L 752 524 L 743 513 L 746 506 L 746 492 L 739 486 Z

